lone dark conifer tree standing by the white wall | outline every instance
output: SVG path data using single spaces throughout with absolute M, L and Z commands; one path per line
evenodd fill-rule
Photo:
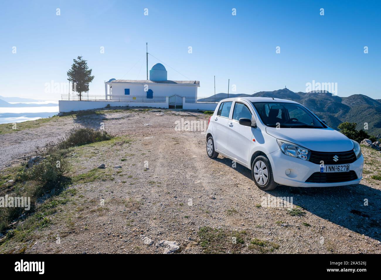
M 67 71 L 67 80 L 73 83 L 73 88 L 79 93 L 79 100 L 82 100 L 82 93 L 89 91 L 89 84 L 94 76 L 91 76 L 92 69 L 89 69 L 87 61 L 82 59 L 82 56 L 78 56 L 73 61 L 71 69 Z

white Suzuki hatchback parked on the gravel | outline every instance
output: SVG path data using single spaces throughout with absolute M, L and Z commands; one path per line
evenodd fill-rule
M 359 143 L 310 110 L 267 97 L 220 101 L 209 120 L 207 154 L 246 166 L 262 190 L 358 184 L 364 162 Z

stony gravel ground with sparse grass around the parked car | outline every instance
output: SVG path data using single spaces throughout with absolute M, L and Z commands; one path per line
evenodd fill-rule
M 233 168 L 221 155 L 208 158 L 205 131 L 176 131 L 181 118 L 207 123 L 209 117 L 174 110 L 109 110 L 1 135 L 1 167 L 18 164 L 36 144 L 56 140 L 75 125 L 99 128 L 104 123 L 120 137 L 76 148 L 70 176 L 88 174 L 104 163 L 102 176 L 73 184 L 75 194 L 51 215 L 50 226 L 27 241 L 10 240 L 0 251 L 381 253 L 381 185 L 370 178 L 380 172 L 381 153 L 363 150 L 369 165 L 361 184 L 279 186 L 265 192 L 247 168 Z M 261 205 L 267 197 L 292 197 L 293 207 Z

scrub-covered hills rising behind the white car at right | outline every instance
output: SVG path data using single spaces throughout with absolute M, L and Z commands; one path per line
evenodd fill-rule
M 374 136 L 381 136 L 381 99 L 373 99 L 363 94 L 339 97 L 327 92 L 295 93 L 288 88 L 261 91 L 251 95 L 237 94 L 237 96 L 231 96 L 229 94 L 229 97 L 239 97 L 238 95 L 296 101 L 325 120 L 332 128 L 337 129 L 337 126 L 342 122 L 351 122 L 357 123 L 357 130 L 360 130 L 364 128 L 364 123 L 368 123 L 367 132 Z

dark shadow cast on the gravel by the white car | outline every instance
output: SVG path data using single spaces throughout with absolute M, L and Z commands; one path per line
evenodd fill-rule
M 215 160 L 233 168 L 229 158 Z M 234 170 L 252 180 L 251 171 L 245 166 L 237 164 Z M 381 241 L 381 190 L 364 184 L 307 188 L 280 185 L 265 193 L 274 197 L 292 197 L 293 205 L 338 226 Z

